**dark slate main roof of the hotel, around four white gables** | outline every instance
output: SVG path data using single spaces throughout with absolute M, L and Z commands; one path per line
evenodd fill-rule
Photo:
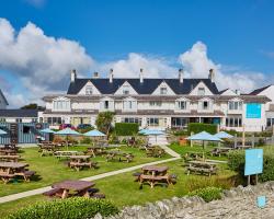
M 110 80 L 106 78 L 93 78 L 76 79 L 75 82 L 70 82 L 67 94 L 78 94 L 88 81 L 91 81 L 102 94 L 115 93 L 125 81 L 127 81 L 138 94 L 151 94 L 163 81 L 176 94 L 189 94 L 201 81 L 203 81 L 214 94 L 218 94 L 219 92 L 210 79 L 184 79 L 183 83 L 180 83 L 179 79 L 144 79 L 144 83 L 140 83 L 139 79 L 113 79 L 113 83 L 110 83 Z

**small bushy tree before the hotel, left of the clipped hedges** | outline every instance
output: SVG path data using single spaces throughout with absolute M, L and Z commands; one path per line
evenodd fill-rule
M 104 132 L 106 136 L 109 136 L 112 122 L 113 122 L 114 113 L 113 112 L 102 112 L 98 114 L 96 118 L 96 127 L 100 131 Z

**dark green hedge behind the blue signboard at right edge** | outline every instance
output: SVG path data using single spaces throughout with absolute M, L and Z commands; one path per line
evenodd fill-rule
M 244 176 L 244 151 L 236 150 L 228 153 L 228 166 Z M 263 149 L 263 173 L 259 174 L 260 182 L 274 181 L 274 148 L 264 147 Z

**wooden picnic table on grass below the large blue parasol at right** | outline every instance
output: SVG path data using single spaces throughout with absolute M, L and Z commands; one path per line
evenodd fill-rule
M 186 168 L 187 175 L 190 173 L 199 173 L 199 174 L 206 174 L 208 176 L 212 176 L 213 174 L 217 174 L 217 165 L 213 162 L 206 162 L 206 161 L 190 161 L 189 166 Z

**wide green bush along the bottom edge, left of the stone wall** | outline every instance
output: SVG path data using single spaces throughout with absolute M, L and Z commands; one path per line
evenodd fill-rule
M 105 199 L 78 197 L 36 203 L 11 214 L 7 219 L 85 219 L 98 212 L 106 217 L 117 214 L 118 209 Z

